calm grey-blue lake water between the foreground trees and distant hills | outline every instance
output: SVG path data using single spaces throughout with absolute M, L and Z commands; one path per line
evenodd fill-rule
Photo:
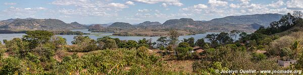
M 119 38 L 120 40 L 141 40 L 143 38 L 150 39 L 152 42 L 156 42 L 159 37 L 144 37 L 144 36 L 113 36 L 113 33 L 92 33 L 88 31 L 88 29 L 81 29 L 81 30 L 71 30 L 71 31 L 81 31 L 83 33 L 90 33 L 90 35 L 84 35 L 89 36 L 92 39 L 101 38 L 104 36 L 110 36 L 112 38 Z M 207 32 L 205 34 L 196 34 L 196 35 L 188 35 L 188 36 L 180 36 L 179 40 L 183 40 L 183 38 L 190 38 L 193 37 L 195 41 L 197 41 L 200 38 L 205 38 L 207 34 L 219 34 L 220 32 Z M 249 33 L 248 33 L 249 34 Z M 12 40 L 13 38 L 21 38 L 23 35 L 26 34 L 0 34 L 0 41 L 3 43 L 4 39 Z M 77 35 L 56 35 L 56 36 L 62 36 L 63 38 L 66 38 L 66 42 L 68 44 L 72 44 L 71 42 L 74 40 L 73 38 Z M 205 39 L 205 41 L 208 41 Z

